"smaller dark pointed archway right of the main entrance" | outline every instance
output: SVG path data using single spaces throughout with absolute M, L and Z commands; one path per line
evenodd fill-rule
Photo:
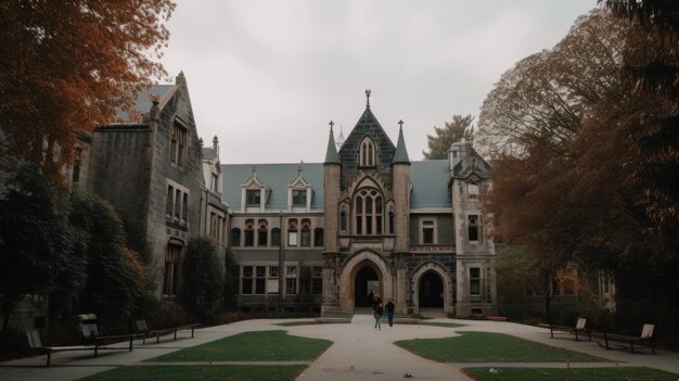
M 412 275 L 412 284 L 414 285 L 413 300 L 417 301 L 415 312 L 419 313 L 420 308 L 441 308 L 446 314 L 454 313 L 452 304 L 454 287 L 450 272 L 445 266 L 435 262 L 422 264 Z M 422 290 L 422 288 L 428 288 L 428 290 Z M 424 305 L 421 304 L 422 302 Z

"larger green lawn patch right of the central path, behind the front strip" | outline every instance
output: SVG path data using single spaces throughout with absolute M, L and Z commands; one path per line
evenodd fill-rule
M 396 345 L 439 363 L 607 361 L 509 334 L 460 332 L 461 336 L 397 341 Z M 675 380 L 676 381 L 676 380 Z

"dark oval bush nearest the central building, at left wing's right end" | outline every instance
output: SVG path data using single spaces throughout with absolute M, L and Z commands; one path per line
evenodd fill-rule
M 189 241 L 181 300 L 191 314 L 208 318 L 218 310 L 225 282 L 221 274 L 215 244 L 205 237 Z

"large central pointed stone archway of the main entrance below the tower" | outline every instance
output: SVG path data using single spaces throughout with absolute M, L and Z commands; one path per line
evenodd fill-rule
M 386 259 L 384 259 L 384 257 L 380 254 L 372 251 L 363 251 L 353 255 L 347 262 L 345 262 L 340 277 L 340 307 L 342 310 L 354 312 L 354 308 L 364 306 L 360 305 L 362 301 L 360 296 L 357 301 L 357 293 L 361 292 L 360 289 L 357 290 L 357 283 L 366 281 L 364 287 L 368 291 L 368 287 L 375 285 L 375 283 L 368 283 L 368 281 L 374 282 L 375 276 L 380 296 L 383 300 L 393 297 L 394 288 L 392 284 L 392 270 L 389 269 Z M 359 288 L 362 287 L 363 285 L 359 285 Z M 357 304 L 357 302 L 359 304 Z

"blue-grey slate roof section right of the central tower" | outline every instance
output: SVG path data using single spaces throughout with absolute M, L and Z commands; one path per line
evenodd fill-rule
M 411 209 L 452 207 L 448 194 L 450 181 L 448 165 L 447 160 L 410 162 Z

